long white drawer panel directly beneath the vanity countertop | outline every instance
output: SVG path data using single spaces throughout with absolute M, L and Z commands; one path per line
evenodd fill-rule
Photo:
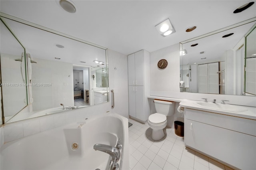
M 256 121 L 252 119 L 245 119 L 187 108 L 184 110 L 184 115 L 185 119 L 256 136 Z

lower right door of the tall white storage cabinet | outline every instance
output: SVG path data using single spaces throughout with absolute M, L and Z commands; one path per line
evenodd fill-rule
M 144 113 L 144 87 L 143 86 L 136 86 L 136 118 L 142 121 L 145 120 L 145 113 Z

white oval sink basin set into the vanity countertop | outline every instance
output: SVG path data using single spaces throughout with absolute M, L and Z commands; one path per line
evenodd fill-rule
M 210 103 L 210 102 L 196 102 L 196 105 L 208 109 L 214 109 L 214 110 L 221 110 L 221 111 L 228 111 L 228 112 L 244 112 L 248 109 L 236 105 L 229 105 L 229 104 L 220 104 L 220 103 Z

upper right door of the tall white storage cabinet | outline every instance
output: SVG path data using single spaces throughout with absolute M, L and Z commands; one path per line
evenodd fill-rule
M 144 85 L 144 50 L 135 53 L 135 85 Z

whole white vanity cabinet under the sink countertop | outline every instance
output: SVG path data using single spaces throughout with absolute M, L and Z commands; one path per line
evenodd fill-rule
M 256 120 L 185 108 L 184 142 L 226 164 L 256 169 Z

